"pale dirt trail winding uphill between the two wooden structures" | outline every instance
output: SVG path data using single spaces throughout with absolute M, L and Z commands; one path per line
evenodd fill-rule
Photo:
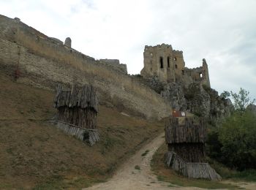
M 168 185 L 157 180 L 157 176 L 151 172 L 150 162 L 157 148 L 165 142 L 164 133 L 160 134 L 149 144 L 140 149 L 131 159 L 129 159 L 106 183 L 99 183 L 88 189 L 170 189 Z M 141 156 L 142 153 L 148 151 L 146 156 Z M 136 170 L 135 166 L 140 167 Z M 171 189 L 180 189 L 172 187 Z M 182 188 L 182 189 L 197 189 L 197 188 Z

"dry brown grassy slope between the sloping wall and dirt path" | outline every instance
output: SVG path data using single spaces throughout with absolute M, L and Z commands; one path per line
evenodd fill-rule
M 89 147 L 47 121 L 56 114 L 53 94 L 0 72 L 0 189 L 79 189 L 104 181 L 163 130 L 161 122 L 99 106 L 100 142 Z

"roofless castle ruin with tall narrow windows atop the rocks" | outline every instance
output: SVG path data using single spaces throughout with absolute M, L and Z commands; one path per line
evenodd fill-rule
M 171 45 L 145 46 L 143 77 L 158 77 L 161 83 L 181 82 L 184 86 L 201 83 L 211 88 L 208 65 L 203 58 L 203 66 L 195 69 L 185 67 L 183 52 L 173 50 Z

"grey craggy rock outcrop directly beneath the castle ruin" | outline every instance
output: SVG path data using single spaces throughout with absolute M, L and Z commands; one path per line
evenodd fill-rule
M 233 110 L 230 99 L 224 99 L 212 88 L 192 83 L 187 88 L 182 83 L 168 83 L 161 92 L 174 110 L 188 111 L 216 123 Z

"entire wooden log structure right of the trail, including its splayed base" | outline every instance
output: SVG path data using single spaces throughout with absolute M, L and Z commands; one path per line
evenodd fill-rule
M 189 178 L 219 180 L 221 177 L 204 162 L 206 126 L 203 118 L 168 118 L 165 141 L 168 145 L 166 164 Z

